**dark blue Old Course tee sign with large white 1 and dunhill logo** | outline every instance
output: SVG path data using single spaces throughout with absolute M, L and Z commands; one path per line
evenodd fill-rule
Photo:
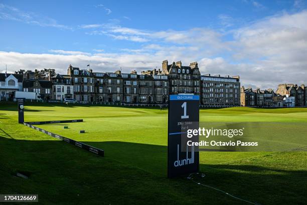
M 199 127 L 199 95 L 170 95 L 168 127 L 168 177 L 198 172 L 198 147 L 187 146 L 186 133 Z

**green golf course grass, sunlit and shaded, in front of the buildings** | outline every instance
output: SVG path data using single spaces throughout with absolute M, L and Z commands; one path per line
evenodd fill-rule
M 17 114 L 17 105 L 0 104 L 0 193 L 38 193 L 43 204 L 244 204 L 185 177 L 166 178 L 167 110 L 25 107 L 26 122 L 83 119 L 38 127 L 104 149 L 105 157 L 20 125 Z M 307 123 L 307 109 L 208 109 L 200 121 Z M 201 152 L 200 164 L 199 181 L 249 201 L 307 201 L 306 152 Z

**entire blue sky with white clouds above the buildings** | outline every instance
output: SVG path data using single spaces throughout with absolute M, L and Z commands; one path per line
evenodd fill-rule
M 241 85 L 307 84 L 307 1 L 3 1 L 0 72 L 198 62 Z

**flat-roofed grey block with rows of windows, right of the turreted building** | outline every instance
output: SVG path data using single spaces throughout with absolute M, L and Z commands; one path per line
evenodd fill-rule
M 201 104 L 207 106 L 240 106 L 239 80 L 239 76 L 202 75 Z

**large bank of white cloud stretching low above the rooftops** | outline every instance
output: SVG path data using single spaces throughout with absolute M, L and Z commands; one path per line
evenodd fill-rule
M 220 16 L 226 27 L 229 18 Z M 91 35 L 140 44 L 133 49 L 121 48 L 119 53 L 99 49 L 93 49 L 98 52 L 95 54 L 64 50 L 50 51 L 55 54 L 0 52 L 0 64 L 10 65 L 11 71 L 49 67 L 65 73 L 69 64 L 83 67 L 90 62 L 95 71 L 122 67 L 129 72 L 160 68 L 168 59 L 170 63 L 182 60 L 185 65 L 198 61 L 203 74 L 240 75 L 243 85 L 276 88 L 279 83 L 307 84 L 306 20 L 307 11 L 282 13 L 234 29 L 227 33 L 232 38 L 227 39 L 225 33 L 207 28 L 147 31 L 114 24 L 82 25 L 79 28 Z

